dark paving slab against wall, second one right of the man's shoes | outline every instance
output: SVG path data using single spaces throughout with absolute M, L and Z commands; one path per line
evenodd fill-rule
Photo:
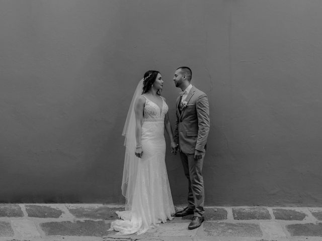
M 264 207 L 232 208 L 232 215 L 235 220 L 271 219 L 269 211 Z

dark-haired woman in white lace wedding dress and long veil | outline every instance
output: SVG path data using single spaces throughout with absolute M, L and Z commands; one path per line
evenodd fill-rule
M 175 208 L 171 196 L 165 163 L 164 130 L 171 140 L 172 152 L 177 152 L 168 105 L 160 96 L 164 81 L 158 71 L 149 70 L 139 82 L 127 114 L 125 160 L 122 194 L 125 211 L 116 212 L 123 220 L 111 223 L 117 234 L 141 234 L 160 222 L 172 220 Z

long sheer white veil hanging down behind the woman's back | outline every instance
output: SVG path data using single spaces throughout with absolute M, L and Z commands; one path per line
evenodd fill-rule
M 136 139 L 135 139 L 135 100 L 142 94 L 143 79 L 141 79 L 135 89 L 129 111 L 127 113 L 122 136 L 125 136 L 125 157 L 122 179 L 122 195 L 126 198 L 125 210 L 129 210 L 132 205 L 132 197 L 134 193 L 135 180 L 137 174 L 137 164 L 139 158 L 135 156 Z

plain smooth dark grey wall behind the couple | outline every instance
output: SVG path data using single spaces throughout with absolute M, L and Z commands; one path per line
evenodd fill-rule
M 187 65 L 210 101 L 206 204 L 322 206 L 321 13 L 319 0 L 1 1 L 0 201 L 123 201 L 135 86 L 159 70 L 174 123 Z

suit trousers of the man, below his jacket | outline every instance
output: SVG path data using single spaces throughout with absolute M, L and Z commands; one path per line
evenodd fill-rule
M 194 209 L 195 216 L 203 216 L 204 210 L 204 185 L 202 177 L 202 165 L 205 155 L 199 160 L 194 159 L 194 154 L 180 152 L 180 158 L 184 168 L 185 176 L 188 178 L 188 208 Z

